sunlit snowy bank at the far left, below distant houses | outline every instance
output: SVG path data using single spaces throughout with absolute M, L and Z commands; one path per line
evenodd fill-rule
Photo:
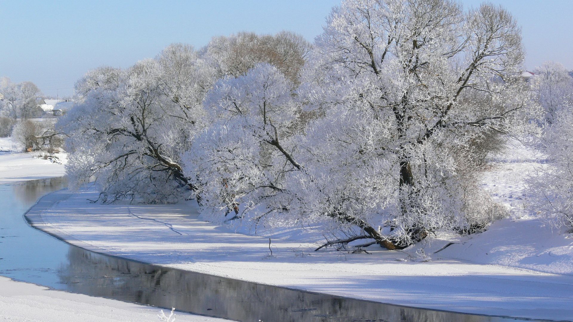
M 62 163 L 38 158 L 40 152 L 17 152 L 11 138 L 0 138 L 0 184 L 64 175 L 65 154 L 57 154 Z

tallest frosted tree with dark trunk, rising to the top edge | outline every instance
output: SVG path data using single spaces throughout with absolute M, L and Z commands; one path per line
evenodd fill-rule
M 476 142 L 528 127 L 520 29 L 501 7 L 350 0 L 333 9 L 301 95 L 320 111 L 308 211 L 386 248 L 482 229 L 499 209 L 477 182 Z M 336 175 L 342 174 L 342 175 Z M 304 210 L 303 210 L 304 211 Z M 376 229 L 386 226 L 388 230 Z M 391 230 L 391 231 L 390 231 Z

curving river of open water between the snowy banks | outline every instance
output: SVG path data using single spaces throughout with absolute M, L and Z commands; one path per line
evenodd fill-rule
M 68 292 L 249 322 L 523 321 L 300 292 L 89 252 L 33 229 L 23 218 L 38 198 L 65 186 L 64 178 L 0 185 L 0 275 Z

